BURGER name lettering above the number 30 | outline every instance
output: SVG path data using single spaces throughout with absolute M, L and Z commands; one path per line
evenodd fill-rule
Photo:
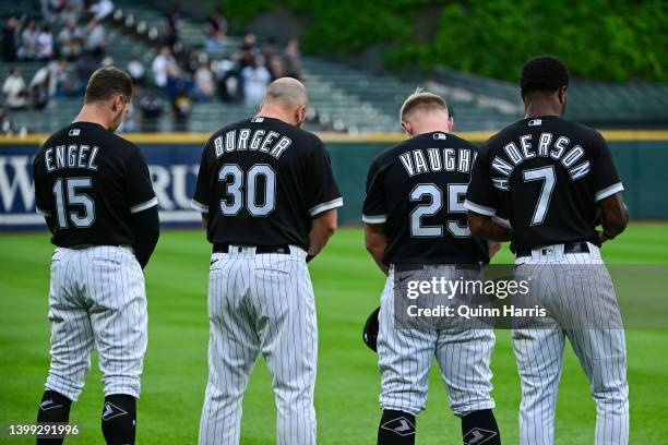
M 266 153 L 278 159 L 291 144 L 293 140 L 288 136 L 263 129 L 230 130 L 214 139 L 216 157 L 226 153 L 250 151 Z

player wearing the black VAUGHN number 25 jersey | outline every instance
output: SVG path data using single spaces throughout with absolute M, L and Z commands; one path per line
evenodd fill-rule
M 401 121 L 411 137 L 372 161 L 362 215 L 367 249 L 387 275 L 378 335 L 383 409 L 378 443 L 415 443 L 436 357 L 464 442 L 500 444 L 490 396 L 493 332 L 399 329 L 395 318 L 397 270 L 410 265 L 416 276 L 475 279 L 489 262 L 489 245 L 472 237 L 463 207 L 477 148 L 449 133 L 448 106 L 434 94 L 417 89 L 404 101 Z

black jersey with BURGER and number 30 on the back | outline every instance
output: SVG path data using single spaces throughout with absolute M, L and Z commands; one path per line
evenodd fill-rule
M 312 218 L 342 205 L 324 144 L 295 125 L 255 117 L 204 146 L 192 206 L 214 244 L 308 249 Z

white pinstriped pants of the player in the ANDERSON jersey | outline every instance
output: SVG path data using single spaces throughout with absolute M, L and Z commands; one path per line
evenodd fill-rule
M 515 279 L 528 276 L 537 302 L 551 306 L 559 318 L 577 318 L 571 314 L 588 312 L 595 320 L 597 305 L 615 304 L 615 289 L 598 248 L 589 253 L 564 254 L 563 245 L 535 249 L 530 257 L 515 262 Z M 591 273 L 582 274 L 582 265 Z M 572 265 L 572 266 L 570 266 Z M 619 315 L 618 309 L 616 309 Z M 601 313 L 609 314 L 610 306 Z M 608 315 L 606 315 L 608 316 Z M 605 323 L 605 321 L 603 321 Z M 563 324 L 562 320 L 554 320 Z M 596 402 L 595 444 L 629 443 L 629 385 L 627 349 L 621 328 L 540 328 L 514 329 L 513 350 L 522 381 L 520 406 L 520 443 L 544 445 L 554 443 L 554 408 L 563 365 L 565 338 L 571 341 L 580 364 L 592 384 Z

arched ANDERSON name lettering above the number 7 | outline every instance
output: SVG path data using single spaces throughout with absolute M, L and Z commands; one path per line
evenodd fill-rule
M 536 157 L 558 160 L 558 165 L 568 169 L 573 181 L 583 178 L 589 172 L 591 164 L 588 160 L 577 164 L 585 155 L 585 151 L 581 145 L 570 147 L 570 143 L 569 137 L 554 136 L 552 133 L 540 133 L 537 140 L 534 140 L 532 134 L 524 134 L 516 143 L 509 142 L 503 146 L 505 156 L 498 154 L 491 161 L 492 170 L 505 177 L 505 179 L 492 178 L 494 187 L 508 190 L 508 178 L 515 167 Z

